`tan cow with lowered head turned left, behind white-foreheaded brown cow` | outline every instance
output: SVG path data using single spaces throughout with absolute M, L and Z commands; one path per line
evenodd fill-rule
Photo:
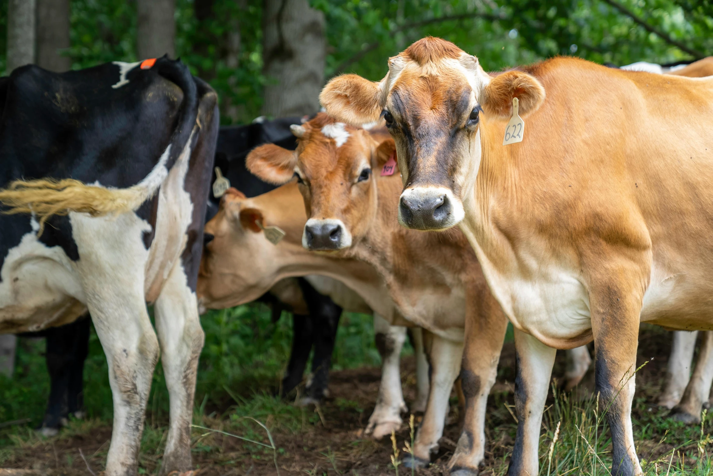
M 383 362 L 376 408 L 366 434 L 374 438 L 390 435 L 401 427 L 406 410 L 401 390 L 399 355 L 409 324 L 386 291 L 376 271 L 353 259 L 334 259 L 302 247 L 302 229 L 307 222 L 302 197 L 294 184 L 246 198 L 229 189 L 220 209 L 205 226 L 214 238 L 203 252 L 198 296 L 202 306 L 224 309 L 253 301 L 277 281 L 290 276 L 307 276 L 318 291 L 332 296 L 347 311 L 374 312 L 376 348 Z M 286 233 L 272 244 L 260 227 L 277 226 Z M 319 274 L 319 276 L 315 276 Z M 324 278 L 323 276 L 328 276 Z M 337 284 L 343 283 L 337 286 Z M 353 290 L 353 291 L 350 291 Z M 383 317 L 382 317 L 383 316 Z M 411 411 L 424 410 L 429 389 L 428 372 L 419 332 L 414 332 L 419 395 Z

